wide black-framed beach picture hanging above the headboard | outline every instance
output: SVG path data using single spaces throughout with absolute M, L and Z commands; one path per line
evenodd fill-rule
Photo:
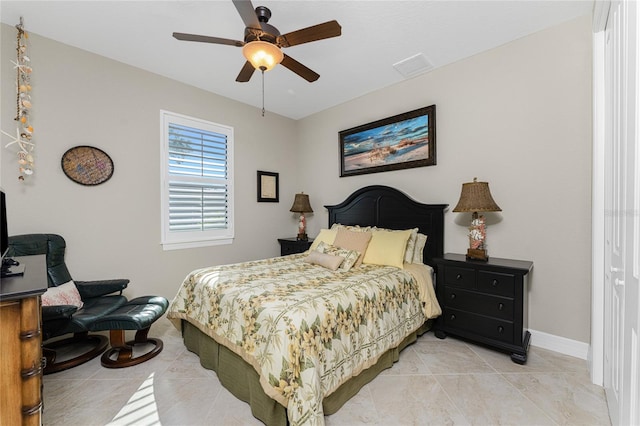
M 340 177 L 436 165 L 436 106 L 339 132 Z

